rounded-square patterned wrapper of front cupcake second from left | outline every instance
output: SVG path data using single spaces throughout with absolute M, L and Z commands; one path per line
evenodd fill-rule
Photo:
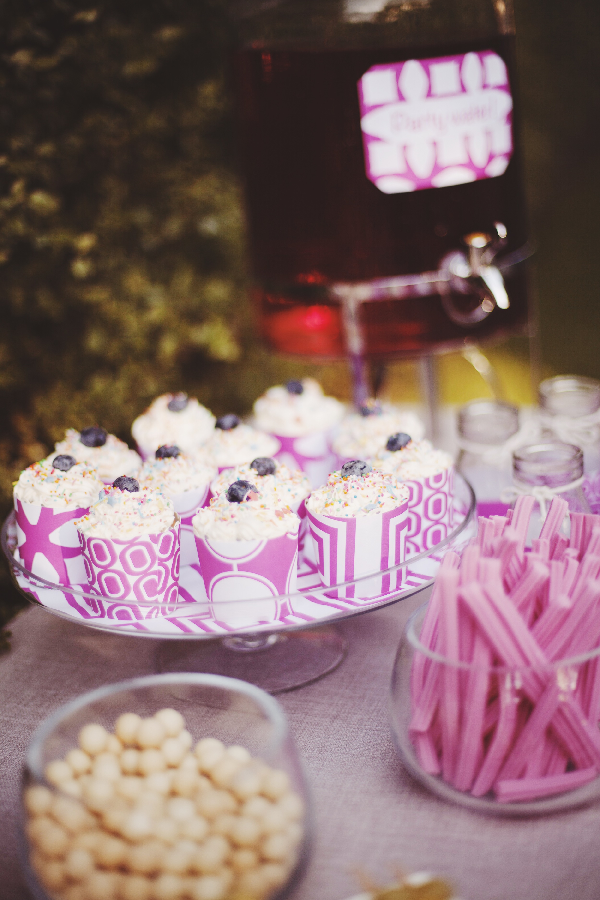
M 180 522 L 158 535 L 128 540 L 77 532 L 90 593 L 113 602 L 177 602 Z

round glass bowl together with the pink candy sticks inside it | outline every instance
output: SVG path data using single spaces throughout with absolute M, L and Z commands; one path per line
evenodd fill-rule
M 452 612 L 445 622 L 434 622 L 431 601 L 409 618 L 390 690 L 391 730 L 400 759 L 434 794 L 492 815 L 543 815 L 596 801 L 600 648 L 552 662 L 544 662 L 552 656 L 545 653 L 533 664 L 502 664 L 499 650 L 510 657 L 502 644 L 515 622 L 507 627 L 498 604 L 488 604 L 487 610 L 486 605 L 481 585 L 471 584 L 460 594 L 458 609 L 452 600 L 449 604 L 458 611 L 453 624 Z M 488 635 L 480 627 L 484 621 Z M 597 611 L 595 620 L 582 627 L 596 631 L 590 640 L 597 644 Z M 448 645 L 444 628 L 456 648 L 452 658 L 429 649 Z M 525 644 L 535 657 L 535 645 L 543 644 L 541 629 L 534 634 L 535 645 L 518 621 L 516 630 L 512 643 Z M 550 642 L 560 646 L 560 629 L 550 634 Z M 470 662 L 460 662 L 461 656 Z

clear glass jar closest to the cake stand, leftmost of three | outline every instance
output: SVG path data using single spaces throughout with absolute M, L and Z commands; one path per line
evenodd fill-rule
M 512 484 L 510 440 L 519 430 L 519 410 L 511 403 L 474 400 L 458 411 L 456 467 L 477 498 L 478 516 L 504 516 L 500 493 Z

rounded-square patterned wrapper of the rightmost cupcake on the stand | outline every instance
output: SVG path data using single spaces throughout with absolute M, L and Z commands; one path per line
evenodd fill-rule
M 454 467 L 430 478 L 403 482 L 408 500 L 407 558 L 432 550 L 452 531 Z

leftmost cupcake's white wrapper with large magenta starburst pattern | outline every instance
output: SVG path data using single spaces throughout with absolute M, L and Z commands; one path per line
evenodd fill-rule
M 78 531 L 73 524 L 89 507 L 54 509 L 14 498 L 17 545 L 29 572 L 52 584 L 85 584 Z

